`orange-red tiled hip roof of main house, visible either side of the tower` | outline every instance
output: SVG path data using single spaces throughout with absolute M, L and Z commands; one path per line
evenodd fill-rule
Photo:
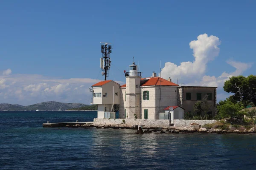
M 151 78 L 142 78 L 140 80 L 140 86 L 149 86 L 149 85 L 165 85 L 165 86 L 179 86 L 173 82 L 169 82 L 166 79 L 160 77 L 151 77 Z M 121 88 L 125 88 L 125 85 L 121 85 Z

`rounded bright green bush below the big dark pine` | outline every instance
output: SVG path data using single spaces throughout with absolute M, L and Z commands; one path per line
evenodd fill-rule
M 235 118 L 235 117 L 241 117 L 243 114 L 240 112 L 244 107 L 241 105 L 241 103 L 234 104 L 230 100 L 227 100 L 223 105 L 218 106 L 218 112 L 221 116 L 221 118 Z

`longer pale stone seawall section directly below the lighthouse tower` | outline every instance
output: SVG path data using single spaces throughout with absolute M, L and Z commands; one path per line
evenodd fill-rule
M 125 123 L 123 123 L 125 120 Z M 151 120 L 151 119 L 93 119 L 94 126 L 118 126 L 118 127 L 133 127 L 135 125 L 143 125 L 143 128 L 160 127 L 168 128 L 169 120 Z

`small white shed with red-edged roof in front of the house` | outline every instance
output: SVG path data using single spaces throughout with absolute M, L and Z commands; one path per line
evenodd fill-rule
M 174 119 L 183 119 L 184 118 L 184 109 L 181 108 L 180 106 L 168 106 L 167 108 L 164 109 L 164 113 L 168 114 L 169 119 L 173 120 Z M 166 117 L 166 116 L 165 116 Z

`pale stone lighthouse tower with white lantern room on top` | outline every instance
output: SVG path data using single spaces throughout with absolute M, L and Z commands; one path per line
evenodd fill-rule
M 138 66 L 133 62 L 129 65 L 130 71 L 125 74 L 126 77 L 126 115 L 128 119 L 141 119 L 140 113 L 140 79 L 141 72 L 138 72 Z M 136 114 L 136 115 L 134 115 Z

